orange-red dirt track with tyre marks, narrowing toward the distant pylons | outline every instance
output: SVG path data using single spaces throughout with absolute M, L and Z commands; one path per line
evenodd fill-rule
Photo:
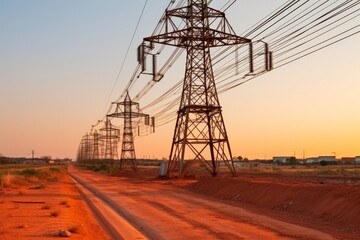
M 266 216 L 261 211 L 249 211 L 202 196 L 166 181 L 110 177 L 74 167 L 69 172 L 150 239 L 339 238 L 309 226 L 275 219 L 268 212 Z

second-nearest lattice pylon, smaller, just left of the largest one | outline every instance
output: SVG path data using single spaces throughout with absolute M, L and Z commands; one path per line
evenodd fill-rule
M 149 118 L 149 115 L 140 112 L 139 103 L 131 101 L 129 93 L 127 92 L 124 101 L 116 103 L 115 112 L 108 114 L 107 116 L 124 119 L 120 169 L 122 169 L 125 164 L 128 164 L 134 171 L 136 171 L 137 164 L 132 119 L 138 117 Z

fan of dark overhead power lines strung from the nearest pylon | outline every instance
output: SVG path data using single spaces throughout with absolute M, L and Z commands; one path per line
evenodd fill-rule
M 174 1 L 175 2 L 175 1 Z M 185 1 L 178 1 L 178 6 L 182 6 Z M 223 8 L 228 9 L 232 6 L 236 0 L 227 1 Z M 352 3 L 351 3 L 352 2 Z M 316 3 L 311 3 L 309 0 L 305 2 L 301 1 L 287 1 L 272 14 L 263 18 L 262 21 L 258 22 L 255 26 L 245 31 L 245 37 L 251 38 L 259 38 L 261 40 L 270 39 L 269 45 L 273 47 L 271 50 L 275 52 L 274 61 L 277 60 L 277 65 L 274 67 L 280 68 L 285 66 L 291 62 L 294 62 L 300 58 L 303 58 L 309 54 L 312 54 L 316 51 L 319 51 L 325 47 L 331 46 L 335 43 L 338 43 L 342 40 L 345 40 L 351 36 L 358 34 L 357 32 L 350 32 L 357 28 L 355 26 L 349 30 L 342 31 L 341 33 L 335 34 L 339 39 L 335 39 L 334 35 L 325 36 L 326 39 L 322 40 L 320 43 L 314 43 L 314 40 L 319 38 L 321 35 L 331 32 L 332 30 L 348 23 L 349 21 L 358 17 L 358 15 L 354 16 L 355 12 L 358 10 L 354 10 L 349 13 L 349 10 L 355 7 L 359 1 L 345 1 L 339 3 L 339 1 L 317 1 Z M 308 5 L 311 4 L 311 5 Z M 336 5 L 337 4 L 337 5 Z M 336 5 L 334 7 L 334 5 Z M 347 14 L 344 14 L 347 13 Z M 343 14 L 343 15 L 342 15 Z M 319 16 L 320 15 L 320 16 Z M 344 17 L 344 15 L 346 15 Z M 314 16 L 316 17 L 316 21 Z M 338 17 L 338 21 L 336 22 L 336 17 Z M 164 15 L 162 16 L 163 20 Z M 156 26 L 156 31 L 154 30 L 153 35 L 158 33 L 161 27 L 161 20 L 159 24 Z M 309 25 L 307 21 L 312 20 L 312 23 Z M 163 23 L 163 22 L 162 22 Z M 326 23 L 326 24 L 325 24 Z M 336 23 L 338 23 L 336 25 Z M 317 27 L 323 27 L 321 31 L 316 31 Z M 326 26 L 326 27 L 324 27 Z M 333 26 L 332 28 L 328 28 L 329 26 Z M 301 32 L 302 31 L 302 32 Z M 290 32 L 290 33 L 289 33 Z M 301 33 L 301 34 L 299 34 Z M 345 35 L 347 34 L 347 35 Z M 306 40 L 306 41 L 305 41 Z M 291 45 L 296 44 L 298 46 L 294 48 Z M 301 45 L 300 45 L 301 44 Z M 310 45 L 309 45 L 310 44 Z M 311 46 L 311 44 L 313 44 Z M 308 45 L 305 48 L 302 46 Z M 285 49 L 282 52 L 282 55 L 276 55 L 277 49 L 284 47 Z M 162 51 L 165 47 L 162 46 L 160 51 Z M 246 75 L 247 67 L 240 66 L 238 68 L 238 74 L 234 72 L 234 68 L 239 64 L 239 62 L 246 61 L 246 50 L 244 47 L 224 47 L 219 48 L 219 50 L 214 52 L 213 55 L 213 67 L 214 67 L 214 76 L 217 77 L 218 93 L 222 94 L 230 89 L 238 87 L 246 82 L 249 82 L 265 72 L 259 72 L 256 76 Z M 235 51 L 239 51 L 239 61 L 236 63 L 231 59 L 230 55 L 234 54 Z M 294 52 L 295 51 L 295 52 Z M 170 55 L 168 60 L 162 66 L 162 70 L 164 73 L 168 70 L 176 59 L 179 57 L 175 55 L 174 52 Z M 257 53 L 257 58 L 255 59 L 255 63 L 261 63 L 262 50 L 261 48 L 254 49 L 254 53 Z M 292 54 L 289 54 L 292 53 Z M 229 58 L 225 63 L 223 60 Z M 233 62 L 231 62 L 233 61 Z M 220 66 L 219 64 L 222 63 Z M 161 70 L 160 70 L 161 71 Z M 237 77 L 240 76 L 240 77 Z M 151 88 L 156 84 L 152 81 L 149 81 L 148 86 L 145 86 L 139 93 L 136 95 L 136 101 L 141 100 L 145 94 L 149 93 Z M 157 118 L 157 126 L 165 125 L 176 118 L 176 107 L 180 101 L 181 94 L 181 86 L 182 79 L 180 81 L 176 81 L 175 85 L 169 88 L 169 90 L 165 91 L 160 97 L 154 99 L 147 105 L 145 105 L 142 110 L 148 111 L 153 116 Z M 127 89 L 127 88 L 126 88 Z

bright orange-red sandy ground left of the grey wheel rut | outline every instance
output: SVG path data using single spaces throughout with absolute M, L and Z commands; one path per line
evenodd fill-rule
M 58 239 L 60 229 L 73 227 L 78 233 L 72 234 L 71 239 L 109 239 L 68 175 L 43 189 L 33 187 L 21 185 L 0 194 L 1 240 Z M 59 215 L 51 216 L 52 212 Z

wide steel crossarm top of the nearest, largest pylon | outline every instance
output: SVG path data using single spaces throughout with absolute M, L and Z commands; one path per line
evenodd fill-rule
M 207 47 L 251 42 L 250 39 L 237 36 L 225 13 L 208 7 L 206 1 L 192 1 L 187 7 L 168 10 L 164 24 L 163 32 L 144 38 L 144 41 L 183 48 L 204 42 Z

